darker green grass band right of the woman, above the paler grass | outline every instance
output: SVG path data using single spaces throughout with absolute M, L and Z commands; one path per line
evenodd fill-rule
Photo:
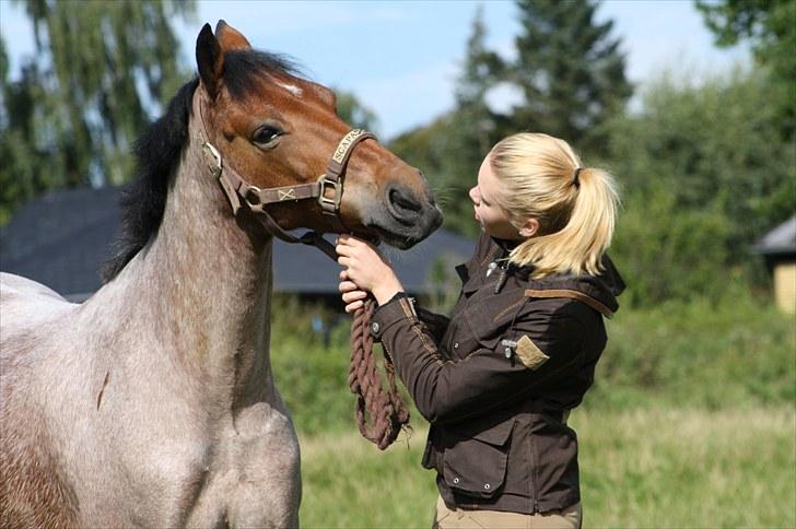
M 607 325 L 608 346 L 586 407 L 717 410 L 796 402 L 793 316 L 725 284 L 719 299 L 620 309 Z

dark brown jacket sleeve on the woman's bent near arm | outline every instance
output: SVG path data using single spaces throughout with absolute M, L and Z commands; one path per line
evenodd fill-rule
M 573 303 L 542 304 L 528 310 L 501 337 L 512 341 L 527 337 L 547 356 L 532 368 L 515 354 L 507 358 L 501 340 L 463 361 L 445 358 L 406 298 L 379 308 L 372 333 L 393 358 L 420 413 L 431 423 L 459 421 L 534 395 L 540 385 L 577 368 L 585 332 L 577 310 L 567 309 Z

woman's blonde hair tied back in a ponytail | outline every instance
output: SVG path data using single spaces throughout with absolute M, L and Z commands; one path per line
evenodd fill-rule
M 619 205 L 613 177 L 581 167 L 565 141 L 529 132 L 500 141 L 490 165 L 502 188 L 495 200 L 512 224 L 519 230 L 528 218 L 539 221 L 537 233 L 512 250 L 510 261 L 532 264 L 534 278 L 598 274 Z

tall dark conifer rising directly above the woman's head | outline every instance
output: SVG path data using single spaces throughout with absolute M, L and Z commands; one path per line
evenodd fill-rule
M 594 21 L 593 0 L 517 0 L 517 8 L 523 31 L 506 68 L 525 101 L 511 131 L 546 132 L 582 149 L 602 144 L 604 125 L 632 94 L 613 22 Z

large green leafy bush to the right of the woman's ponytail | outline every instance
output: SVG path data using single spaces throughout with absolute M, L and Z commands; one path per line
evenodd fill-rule
M 793 214 L 796 145 L 780 138 L 769 89 L 753 72 L 701 86 L 667 74 L 641 113 L 610 125 L 605 163 L 624 190 L 611 252 L 633 302 L 715 296 Z

